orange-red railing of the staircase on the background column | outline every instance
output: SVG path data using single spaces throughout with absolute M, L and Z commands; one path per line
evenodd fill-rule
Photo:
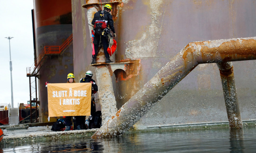
M 67 47 L 73 40 L 73 34 L 71 34 L 67 40 L 65 40 L 61 46 L 44 46 L 44 49 L 37 56 L 31 67 L 27 67 L 27 75 L 37 74 L 41 68 L 42 63 L 46 59 L 46 54 L 60 54 L 65 47 Z

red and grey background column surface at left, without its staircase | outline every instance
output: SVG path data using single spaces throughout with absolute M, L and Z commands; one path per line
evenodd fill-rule
M 72 34 L 72 8 L 68 0 L 34 0 L 36 55 L 44 46 L 61 45 Z M 39 122 L 48 122 L 48 98 L 45 82 L 67 82 L 67 74 L 73 73 L 73 46 L 61 55 L 52 55 L 39 71 L 38 92 L 40 101 Z M 76 81 L 79 79 L 75 79 Z M 55 122 L 55 118 L 51 118 Z

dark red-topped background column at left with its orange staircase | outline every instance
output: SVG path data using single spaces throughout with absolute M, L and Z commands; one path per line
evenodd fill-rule
M 34 0 L 32 21 L 34 63 L 27 68 L 27 77 L 30 79 L 30 101 L 36 102 L 36 106 L 37 103 L 40 105 L 39 122 L 48 122 L 45 82 L 66 82 L 66 75 L 73 72 L 71 2 Z M 50 120 L 55 121 L 55 118 Z

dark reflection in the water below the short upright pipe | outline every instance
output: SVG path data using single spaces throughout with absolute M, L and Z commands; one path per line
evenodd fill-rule
M 244 152 L 243 129 L 230 129 L 230 152 Z

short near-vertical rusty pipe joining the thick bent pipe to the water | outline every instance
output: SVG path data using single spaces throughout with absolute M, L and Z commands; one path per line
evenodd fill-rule
M 231 62 L 217 63 L 220 69 L 220 78 L 227 109 L 227 118 L 230 128 L 243 128 L 240 109 L 236 94 L 236 85 Z

